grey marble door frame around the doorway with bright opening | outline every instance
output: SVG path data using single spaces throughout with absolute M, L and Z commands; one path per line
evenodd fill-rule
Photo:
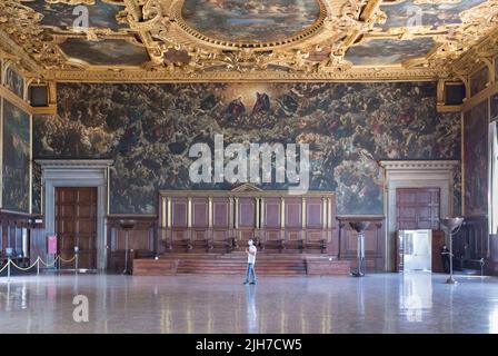
M 458 160 L 384 160 L 385 212 L 386 212 L 386 270 L 395 270 L 396 189 L 439 188 L 440 216 L 454 212 L 454 172 L 459 169 Z

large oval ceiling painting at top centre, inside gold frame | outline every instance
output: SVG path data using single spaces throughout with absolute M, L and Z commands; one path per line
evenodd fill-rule
M 320 18 L 317 0 L 185 0 L 185 22 L 212 39 L 277 42 L 312 27 Z

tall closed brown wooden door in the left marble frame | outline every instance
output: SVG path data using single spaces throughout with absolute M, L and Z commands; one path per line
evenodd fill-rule
M 56 188 L 59 253 L 69 259 L 79 248 L 79 268 L 97 268 L 97 188 Z

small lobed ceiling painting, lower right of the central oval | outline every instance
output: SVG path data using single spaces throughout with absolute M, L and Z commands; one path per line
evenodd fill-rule
M 435 46 L 431 38 L 409 41 L 389 39 L 369 40 L 363 44 L 351 47 L 345 59 L 355 66 L 388 66 L 401 61 L 425 57 Z

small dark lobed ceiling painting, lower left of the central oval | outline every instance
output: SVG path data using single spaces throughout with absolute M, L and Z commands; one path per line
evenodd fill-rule
M 70 38 L 60 44 L 68 56 L 94 66 L 140 66 L 149 60 L 143 47 L 126 40 L 103 40 L 89 42 L 84 39 Z

